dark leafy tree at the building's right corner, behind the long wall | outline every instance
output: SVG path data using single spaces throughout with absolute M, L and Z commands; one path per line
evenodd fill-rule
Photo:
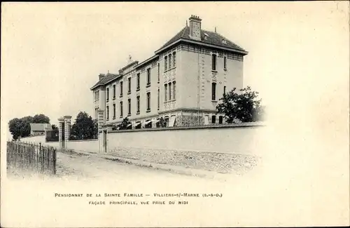
M 239 93 L 233 88 L 229 93 L 223 94 L 221 103 L 216 106 L 220 113 L 224 113 L 228 123 L 235 119 L 242 122 L 262 120 L 264 107 L 260 105 L 258 92 L 252 91 L 250 86 L 242 88 Z

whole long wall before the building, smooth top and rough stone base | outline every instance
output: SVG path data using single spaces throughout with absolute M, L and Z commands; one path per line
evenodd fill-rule
M 255 167 L 268 143 L 262 123 L 118 130 L 109 132 L 109 154 L 125 159 L 218 173 Z

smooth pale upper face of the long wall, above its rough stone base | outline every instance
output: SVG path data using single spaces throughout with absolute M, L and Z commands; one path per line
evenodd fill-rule
M 109 150 L 118 147 L 181 151 L 258 154 L 264 143 L 262 123 L 232 125 L 113 130 L 108 133 Z

